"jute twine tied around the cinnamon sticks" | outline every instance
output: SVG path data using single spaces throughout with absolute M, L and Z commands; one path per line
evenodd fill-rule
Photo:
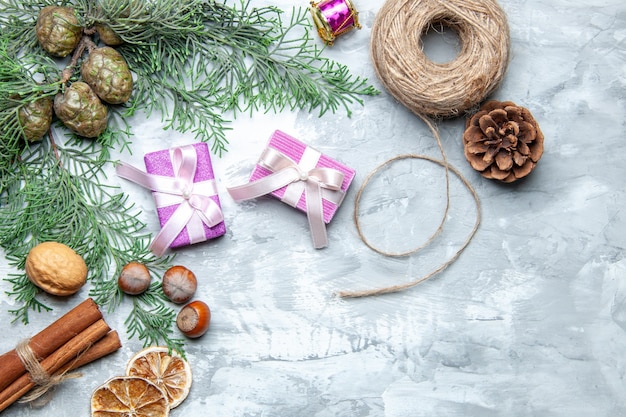
M 36 400 L 42 400 L 37 405 L 43 405 L 50 400 L 50 397 L 44 397 L 45 394 L 50 394 L 51 390 L 58 384 L 70 378 L 79 378 L 80 373 L 60 373 L 50 375 L 41 366 L 37 357 L 33 353 L 33 350 L 29 346 L 30 339 L 24 339 L 17 344 L 15 352 L 22 361 L 24 368 L 29 373 L 31 381 L 35 383 L 35 388 L 31 390 L 28 395 L 23 396 L 20 402 L 34 402 Z

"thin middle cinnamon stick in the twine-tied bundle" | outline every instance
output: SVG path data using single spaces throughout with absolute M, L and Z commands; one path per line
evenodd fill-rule
M 102 339 L 110 330 L 103 319 L 98 320 L 43 359 L 40 362 L 41 367 L 49 375 L 54 374 L 64 365 L 86 352 L 89 347 Z M 11 385 L 0 392 L 0 412 L 17 401 L 34 386 L 35 383 L 27 373 L 17 378 Z

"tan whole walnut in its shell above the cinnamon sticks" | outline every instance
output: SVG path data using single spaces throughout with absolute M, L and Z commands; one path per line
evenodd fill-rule
M 28 279 L 48 294 L 71 295 L 87 281 L 87 264 L 63 243 L 43 242 L 33 247 L 24 265 Z

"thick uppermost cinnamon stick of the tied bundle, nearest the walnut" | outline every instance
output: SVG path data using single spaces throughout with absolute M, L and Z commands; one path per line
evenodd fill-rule
M 88 298 L 33 336 L 29 346 L 35 356 L 42 360 L 101 318 L 102 313 L 97 304 Z M 15 349 L 0 356 L 0 369 L 0 392 L 26 373 Z

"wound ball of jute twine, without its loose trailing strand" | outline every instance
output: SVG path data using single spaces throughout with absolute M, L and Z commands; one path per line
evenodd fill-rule
M 434 25 L 455 30 L 456 59 L 435 63 L 422 36 Z M 454 117 L 500 84 L 509 60 L 509 27 L 495 0 L 389 0 L 376 16 L 371 55 L 378 78 L 414 113 Z

